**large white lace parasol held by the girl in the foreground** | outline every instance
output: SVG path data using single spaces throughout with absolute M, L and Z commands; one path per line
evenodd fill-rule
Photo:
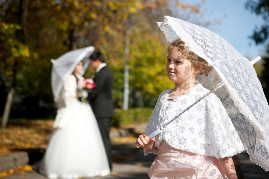
M 224 38 L 198 25 L 165 16 L 157 22 L 168 43 L 180 38 L 193 53 L 215 70 L 202 75 L 199 83 L 212 90 L 213 76 L 225 87 L 215 91 L 250 155 L 250 160 L 269 171 L 269 106 L 256 71 L 249 60 Z M 227 146 L 229 147 L 229 146 Z

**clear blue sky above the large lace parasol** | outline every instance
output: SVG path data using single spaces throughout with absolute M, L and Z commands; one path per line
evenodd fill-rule
M 185 0 L 182 3 L 197 4 L 202 0 Z M 202 16 L 199 21 L 211 21 L 206 27 L 226 39 L 233 47 L 247 58 L 255 58 L 264 54 L 264 45 L 256 46 L 248 38 L 255 26 L 264 23 L 261 17 L 245 9 L 246 0 L 205 0 L 201 6 Z M 197 19 L 197 16 L 195 17 Z M 216 21 L 220 20 L 218 24 Z M 251 44 L 251 45 L 250 45 Z

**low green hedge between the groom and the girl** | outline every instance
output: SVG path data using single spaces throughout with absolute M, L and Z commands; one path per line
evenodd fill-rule
M 140 124 L 149 121 L 153 108 L 131 108 L 126 111 L 115 109 L 115 117 L 111 125 L 119 127 L 120 125 Z

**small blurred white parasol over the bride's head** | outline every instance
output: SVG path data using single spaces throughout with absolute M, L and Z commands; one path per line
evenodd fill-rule
M 94 47 L 84 47 L 77 50 L 72 50 L 61 55 L 56 60 L 51 59 L 53 63 L 51 70 L 51 87 L 54 96 L 54 101 L 57 102 L 59 93 L 65 80 L 73 73 L 77 64 L 83 60 L 83 75 L 90 63 L 89 57 L 94 52 Z

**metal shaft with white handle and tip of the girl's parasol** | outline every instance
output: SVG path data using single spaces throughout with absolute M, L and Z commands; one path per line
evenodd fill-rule
M 260 56 L 254 58 L 253 60 L 251 60 L 249 63 L 251 65 L 255 64 L 257 61 L 259 61 L 260 59 L 262 59 Z M 187 107 L 184 111 L 182 111 L 179 115 L 177 115 L 175 118 L 173 118 L 171 121 L 169 121 L 168 123 L 164 124 L 164 126 L 162 126 L 161 128 L 158 128 L 157 130 L 155 130 L 154 132 L 152 132 L 151 134 L 148 135 L 148 138 L 151 139 L 153 137 L 155 137 L 157 134 L 159 134 L 163 128 L 165 128 L 168 124 L 170 124 L 172 121 L 174 121 L 176 118 L 178 118 L 180 115 L 182 115 L 184 112 L 186 112 L 187 110 L 189 110 L 193 105 L 195 105 L 196 103 L 198 103 L 199 101 L 201 101 L 202 99 L 204 99 L 205 97 L 207 97 L 210 93 L 212 93 L 213 91 L 221 88 L 224 86 L 223 81 L 221 81 L 219 84 L 217 84 L 213 90 L 211 90 L 210 92 L 208 92 L 206 95 L 204 95 L 203 97 L 201 97 L 200 99 L 198 99 L 198 101 L 196 101 L 195 103 L 193 103 L 192 105 L 190 105 L 189 107 Z M 227 97 L 226 97 L 227 98 Z M 225 99 L 226 99 L 225 98 Z M 137 148 L 139 148 L 140 146 L 135 145 Z

